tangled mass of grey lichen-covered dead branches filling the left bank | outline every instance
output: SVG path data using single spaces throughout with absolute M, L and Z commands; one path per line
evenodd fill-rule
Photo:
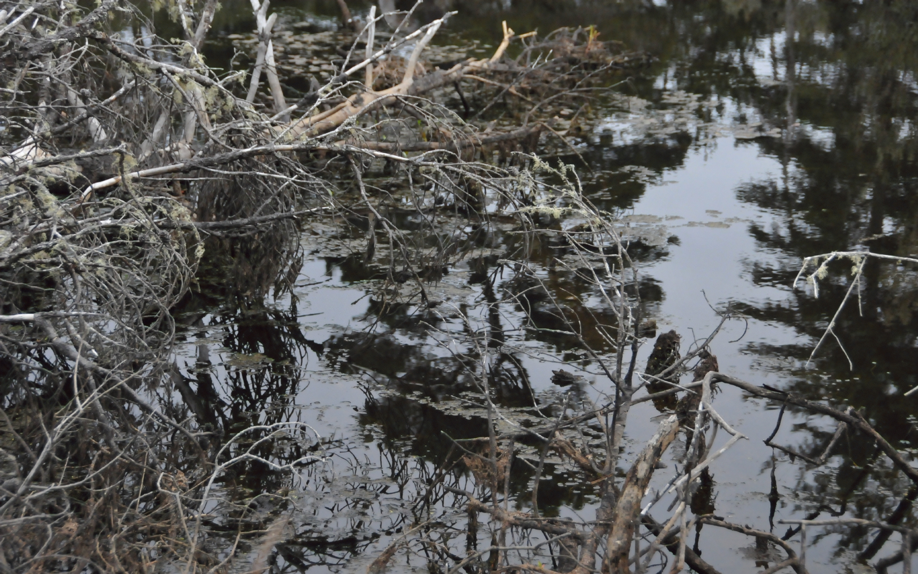
M 124 0 L 89 11 L 0 6 L 4 572 L 226 568 L 253 504 L 226 495 L 229 468 L 289 472 L 319 460 L 323 444 L 306 425 L 237 432 L 175 404 L 174 309 L 213 275 L 201 270 L 234 277 L 232 288 L 213 287 L 241 301 L 276 297 L 297 276 L 301 221 L 336 213 L 370 221 L 368 260 L 380 226 L 388 284 L 407 274 L 427 300 L 420 274 L 462 256 L 465 240 L 444 236 L 419 260 L 410 247 L 425 241 L 377 208 L 363 174 L 394 168 L 404 189 L 420 183 L 437 206 L 487 225 L 488 193 L 517 207 L 532 198 L 518 172 L 476 154 L 534 148 L 542 129 L 554 131 L 540 106 L 582 101 L 620 61 L 582 32 L 537 40 L 505 29 L 490 58 L 422 73 L 445 17 L 377 35 L 393 15 L 373 11 L 330 81 L 291 103 L 267 1 L 252 6 L 252 70 L 229 73 L 201 54 L 216 0 L 169 2 L 184 34 L 174 41 Z M 395 16 L 408 28 L 410 14 Z M 521 39 L 530 43 L 509 60 Z M 364 54 L 354 58 L 358 40 Z M 410 55 L 399 61 L 402 47 Z M 460 84 L 469 82 L 490 89 L 477 92 L 493 100 L 482 111 L 510 109 L 508 95 L 530 104 L 521 127 L 481 131 L 429 97 L 455 89 L 468 106 Z M 334 192 L 353 182 L 359 197 L 341 203 Z M 235 539 L 214 534 L 227 531 Z

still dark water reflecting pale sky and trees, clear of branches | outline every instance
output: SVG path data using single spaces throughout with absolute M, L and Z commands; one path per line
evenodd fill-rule
M 318 32 L 333 29 L 338 17 L 334 2 L 275 6 L 282 28 Z M 459 10 L 448 41 L 472 55 L 497 44 L 506 19 L 518 32 L 595 25 L 601 39 L 653 56 L 616 88 L 621 96 L 597 111 L 595 129 L 577 141 L 589 169 L 573 154 L 563 159 L 577 165 L 600 207 L 664 238 L 638 255 L 646 312 L 658 332 L 677 330 L 685 348 L 718 321 L 708 301 L 730 304 L 748 321 L 728 323 L 713 343 L 722 372 L 862 409 L 911 456 L 918 396 L 903 393 L 918 385 L 912 268 L 867 264 L 860 309 L 849 304 L 836 327 L 853 368 L 834 340 L 806 366 L 848 287 L 850 263 L 833 268 L 820 298 L 790 286 L 807 255 L 918 253 L 918 3 L 505 0 L 431 3 L 424 16 L 438 8 Z M 214 61 L 229 61 L 233 44 L 226 37 L 250 32 L 249 14 L 248 3 L 224 3 L 215 25 L 224 39 L 208 48 Z M 411 522 L 406 508 L 449 448 L 442 433 L 479 436 L 486 426 L 482 411 L 454 400 L 469 388 L 461 365 L 422 324 L 448 331 L 459 328 L 456 321 L 416 309 L 378 316 L 363 283 L 369 277 L 346 253 L 314 241 L 319 231 L 305 240 L 310 254 L 297 300 L 241 312 L 201 296 L 195 305 L 207 314 L 198 320 L 189 311 L 196 322 L 179 365 L 214 424 L 297 420 L 341 441 L 332 480 L 304 471 L 291 487 L 249 468 L 240 488 L 300 492 L 281 552 L 285 571 L 356 571 Z M 482 282 L 493 270 L 486 256 L 470 258 L 433 290 L 470 316 L 495 321 L 482 306 L 503 297 L 499 283 L 492 289 Z M 510 303 L 498 314 L 508 328 L 523 321 Z M 565 342 L 508 336 L 532 350 L 509 359 L 508 368 L 529 381 L 540 404 L 561 392 L 550 383 L 557 366 L 546 357 L 591 368 Z M 608 390 L 601 377 L 592 378 Z M 504 404 L 532 406 L 527 388 L 508 384 L 499 392 Z M 586 385 L 582 392 L 593 391 Z M 804 466 L 762 443 L 779 405 L 732 388 L 722 389 L 715 405 L 751 439 L 713 467 L 715 512 L 734 523 L 784 535 L 782 518 L 883 520 L 908 489 L 866 439 L 845 438 L 825 466 Z M 653 433 L 659 415 L 649 403 L 633 409 L 630 452 Z M 775 441 L 819 456 L 833 432 L 832 421 L 789 411 Z M 551 512 L 591 517 L 591 487 L 566 477 L 556 465 L 540 501 Z M 525 508 L 531 485 L 518 482 Z M 722 572 L 762 569 L 752 539 L 712 530 L 700 536 L 707 561 Z M 812 572 L 870 571 L 855 558 L 873 534 L 815 530 L 807 549 Z M 800 536 L 791 540 L 797 545 Z M 898 544 L 893 535 L 878 557 Z

